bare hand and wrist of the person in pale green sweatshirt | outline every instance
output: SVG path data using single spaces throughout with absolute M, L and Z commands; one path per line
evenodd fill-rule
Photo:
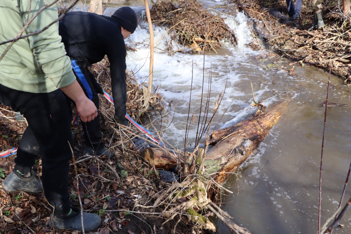
M 98 116 L 98 110 L 96 109 L 94 102 L 85 96 L 77 80 L 71 85 L 61 88 L 61 90 L 75 102 L 77 111 L 80 114 L 80 119 L 83 122 L 92 121 Z

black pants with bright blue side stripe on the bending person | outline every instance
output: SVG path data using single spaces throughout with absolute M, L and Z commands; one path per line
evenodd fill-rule
M 94 75 L 89 71 L 86 63 L 81 60 L 71 60 L 74 74 L 77 78 L 78 83 L 82 87 L 85 95 L 94 102 L 96 108 L 99 110 L 99 96 L 97 92 L 102 93 L 102 88 L 95 80 Z M 73 119 L 71 103 L 74 103 L 72 99 L 66 96 L 67 106 L 70 113 L 70 119 Z M 95 117 L 90 122 L 81 122 L 84 131 L 84 141 L 87 146 L 96 147 L 100 144 L 102 134 L 100 131 L 100 115 Z

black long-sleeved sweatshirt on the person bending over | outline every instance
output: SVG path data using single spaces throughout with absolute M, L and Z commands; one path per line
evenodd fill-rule
M 107 55 L 110 61 L 114 117 L 125 121 L 126 47 L 119 19 L 88 12 L 68 12 L 59 23 L 59 34 L 67 55 L 86 62 L 88 66 L 100 62 Z

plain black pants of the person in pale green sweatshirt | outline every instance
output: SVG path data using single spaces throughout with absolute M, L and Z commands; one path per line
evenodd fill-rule
M 28 93 L 0 84 L 0 102 L 20 111 L 28 121 L 17 150 L 16 166 L 32 167 L 39 148 L 45 197 L 55 207 L 55 214 L 69 212 L 68 161 L 72 158 L 69 143 L 73 147 L 73 139 L 65 96 L 60 89 Z

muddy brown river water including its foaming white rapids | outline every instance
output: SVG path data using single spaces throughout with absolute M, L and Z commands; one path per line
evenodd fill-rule
M 216 1 L 204 1 L 206 7 L 217 6 Z M 111 15 L 120 6 L 131 6 L 140 14 L 143 13 L 143 1 L 111 1 L 105 15 Z M 167 28 L 154 27 L 154 86 L 160 85 L 166 104 L 170 104 L 171 113 L 163 119 L 164 138 L 173 145 L 183 148 L 185 121 L 188 114 L 190 87 L 190 115 L 195 114 L 198 121 L 199 107 L 205 74 L 204 97 L 207 96 L 208 76 L 212 69 L 210 113 L 218 95 L 226 90 L 224 99 L 214 119 L 217 128 L 233 125 L 252 114 L 253 101 L 251 82 L 257 101 L 269 105 L 280 100 L 280 94 L 287 92 L 293 96 L 277 125 L 261 143 L 258 150 L 241 166 L 237 174 L 225 183 L 233 195 L 221 195 L 221 207 L 228 212 L 233 221 L 246 227 L 253 234 L 282 233 L 317 233 L 318 231 L 318 196 L 319 166 L 323 135 L 326 82 L 328 74 L 315 67 L 299 65 L 289 75 L 287 60 L 278 60 L 278 56 L 261 55 L 269 51 L 252 51 L 245 44 L 254 40 L 248 19 L 242 12 L 226 15 L 219 11 L 225 22 L 235 32 L 238 45 L 233 47 L 222 42 L 223 48 L 204 56 L 175 53 L 168 55 L 170 35 Z M 164 36 L 164 37 L 163 37 Z M 128 52 L 127 67 L 135 72 L 140 82 L 147 81 L 148 27 L 146 22 L 127 40 L 137 52 Z M 172 42 L 174 49 L 180 48 Z M 265 65 L 275 63 L 272 69 Z M 332 86 L 329 102 L 338 103 L 328 107 L 325 131 L 323 179 L 322 179 L 322 225 L 337 209 L 350 165 L 350 89 L 343 86 L 338 78 L 331 77 Z M 273 90 L 273 91 L 272 91 Z M 343 106 L 343 105 L 347 106 Z M 169 126 L 168 126 L 169 125 Z M 188 141 L 195 141 L 196 127 L 192 123 Z M 188 145 L 191 150 L 193 144 Z M 347 188 L 345 200 L 351 196 Z M 344 201 L 344 203 L 346 203 Z M 345 227 L 334 233 L 351 233 L 351 212 L 340 222 Z M 221 221 L 216 221 L 219 233 L 231 233 Z

